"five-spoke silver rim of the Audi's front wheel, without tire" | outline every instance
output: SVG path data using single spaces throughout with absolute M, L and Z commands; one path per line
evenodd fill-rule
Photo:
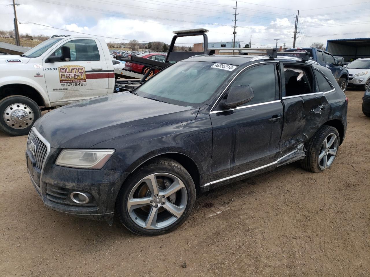
M 142 196 L 139 195 L 142 191 L 145 196 L 137 197 Z M 187 202 L 188 193 L 178 177 L 169 173 L 155 173 L 142 178 L 131 189 L 127 210 L 137 225 L 155 230 L 176 222 L 184 213 Z

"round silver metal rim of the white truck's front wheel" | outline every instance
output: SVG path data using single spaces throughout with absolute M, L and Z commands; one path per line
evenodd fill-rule
M 33 110 L 27 105 L 17 103 L 5 109 L 5 123 L 14 129 L 24 129 L 32 125 Z

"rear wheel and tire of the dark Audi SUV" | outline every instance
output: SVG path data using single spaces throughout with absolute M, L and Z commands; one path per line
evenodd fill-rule
M 326 140 L 327 145 L 330 144 L 331 138 L 334 138 L 333 143 L 329 148 L 324 149 L 324 140 Z M 327 125 L 321 126 L 316 134 L 306 143 L 306 157 L 301 161 L 301 166 L 310 172 L 322 172 L 330 168 L 338 153 L 339 139 L 339 133 L 336 128 Z M 321 159 L 320 156 L 322 156 Z M 324 164 L 325 156 L 326 164 Z

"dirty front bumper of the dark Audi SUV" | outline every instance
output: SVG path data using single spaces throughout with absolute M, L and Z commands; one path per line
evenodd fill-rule
M 30 151 L 26 151 L 28 173 L 44 205 L 78 217 L 111 221 L 115 200 L 128 173 L 61 167 L 55 165 L 59 153 L 60 149 L 50 148 L 39 170 Z M 88 194 L 90 201 L 75 203 L 70 197 L 74 191 Z

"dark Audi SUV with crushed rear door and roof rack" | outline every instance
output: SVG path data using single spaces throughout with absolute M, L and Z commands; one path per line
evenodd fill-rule
M 201 55 L 137 89 L 37 120 L 27 166 L 44 205 L 139 235 L 174 230 L 196 195 L 300 160 L 329 168 L 347 99 L 329 69 L 300 58 Z

